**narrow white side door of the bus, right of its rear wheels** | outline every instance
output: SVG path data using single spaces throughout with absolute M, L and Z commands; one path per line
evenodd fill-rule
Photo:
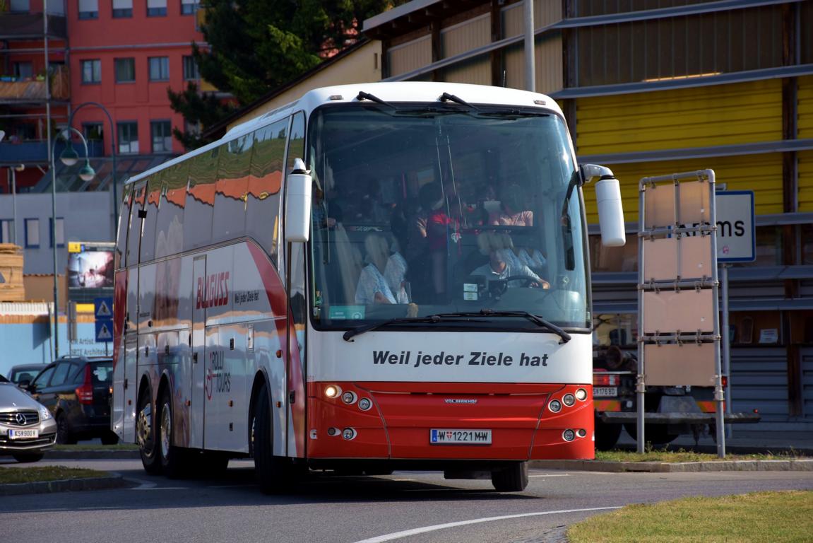
M 187 392 L 192 398 L 189 409 L 189 446 L 203 448 L 203 420 L 206 409 L 206 305 L 201 289 L 206 282 L 206 255 L 196 256 L 192 264 L 192 376 Z

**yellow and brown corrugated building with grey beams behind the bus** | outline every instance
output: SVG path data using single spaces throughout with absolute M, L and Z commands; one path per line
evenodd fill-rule
M 385 81 L 527 88 L 523 16 L 521 1 L 415 0 L 363 28 Z M 714 169 L 755 195 L 756 261 L 730 270 L 733 408 L 813 427 L 813 2 L 536 0 L 533 28 L 536 90 L 580 162 L 621 181 L 627 247 L 591 236 L 599 339 L 635 348 L 641 177 Z

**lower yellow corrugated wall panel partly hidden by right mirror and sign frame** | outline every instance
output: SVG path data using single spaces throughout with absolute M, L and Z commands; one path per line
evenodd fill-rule
M 811 156 L 813 158 L 813 156 Z M 624 221 L 638 221 L 638 182 L 641 177 L 713 169 L 717 183 L 726 190 L 754 190 L 757 215 L 782 212 L 782 155 L 720 156 L 711 159 L 669 160 L 634 164 L 609 164 L 621 184 Z M 592 183 L 585 185 L 587 222 L 598 224 L 596 195 Z

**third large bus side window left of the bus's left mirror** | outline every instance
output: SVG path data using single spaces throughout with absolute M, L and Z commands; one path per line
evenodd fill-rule
M 211 243 L 211 216 L 215 208 L 215 179 L 220 147 L 189 161 L 189 189 L 184 206 L 184 251 Z

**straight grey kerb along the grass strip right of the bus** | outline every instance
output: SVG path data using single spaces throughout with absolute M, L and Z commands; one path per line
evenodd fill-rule
M 609 473 L 677 473 L 693 471 L 813 471 L 813 459 L 715 460 L 709 462 L 602 462 L 597 460 L 533 460 L 530 467 L 549 470 Z

